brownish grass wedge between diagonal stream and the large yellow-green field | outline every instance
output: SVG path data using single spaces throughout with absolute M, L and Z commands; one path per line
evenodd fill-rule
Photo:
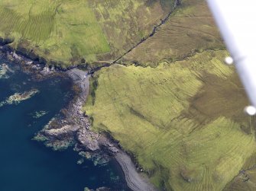
M 160 61 L 180 60 L 204 49 L 223 49 L 222 38 L 204 0 L 183 0 L 157 33 L 122 61 L 156 66 Z

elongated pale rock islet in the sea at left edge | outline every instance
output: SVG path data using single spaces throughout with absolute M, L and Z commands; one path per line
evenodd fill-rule
M 33 97 L 34 94 L 37 94 L 39 91 L 37 89 L 31 89 L 31 91 L 25 91 L 24 93 L 15 93 L 8 97 L 6 100 L 0 103 L 0 107 L 4 105 L 18 104 L 23 100 L 28 100 Z

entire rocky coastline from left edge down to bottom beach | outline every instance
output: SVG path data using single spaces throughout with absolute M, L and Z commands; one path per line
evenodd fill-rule
M 9 40 L 10 41 L 10 40 Z M 9 42 L 8 41 L 8 42 Z M 6 46 L 7 44 L 7 46 Z M 89 76 L 87 71 L 77 67 L 61 69 L 47 67 L 45 63 L 28 59 L 8 48 L 8 43 L 0 39 L 0 52 L 8 59 L 18 62 L 24 72 L 28 72 L 36 80 L 53 76 L 71 78 L 75 95 L 66 108 L 60 111 L 60 116 L 53 118 L 34 137 L 53 150 L 61 150 L 74 146 L 82 158 L 91 159 L 95 164 L 105 164 L 115 158 L 122 167 L 125 180 L 131 190 L 157 190 L 146 177 L 141 175 L 141 168 L 136 167 L 129 154 L 122 150 L 111 135 L 94 132 L 90 127 L 88 116 L 83 113 L 83 104 L 89 94 Z M 83 162 L 78 161 L 78 162 Z M 100 190 L 109 190 L 107 188 Z

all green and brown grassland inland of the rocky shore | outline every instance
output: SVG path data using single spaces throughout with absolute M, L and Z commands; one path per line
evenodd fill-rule
M 255 190 L 254 117 L 219 30 L 203 0 L 174 4 L 2 0 L 0 37 L 48 65 L 101 66 L 83 107 L 92 129 L 158 188 Z

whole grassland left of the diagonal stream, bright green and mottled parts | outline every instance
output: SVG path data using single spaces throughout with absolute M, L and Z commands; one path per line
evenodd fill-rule
M 148 3 L 151 2 L 151 3 Z M 164 1 L 172 5 L 172 1 Z M 63 68 L 83 59 L 111 62 L 151 32 L 170 11 L 163 1 L 2 0 L 0 37 Z

